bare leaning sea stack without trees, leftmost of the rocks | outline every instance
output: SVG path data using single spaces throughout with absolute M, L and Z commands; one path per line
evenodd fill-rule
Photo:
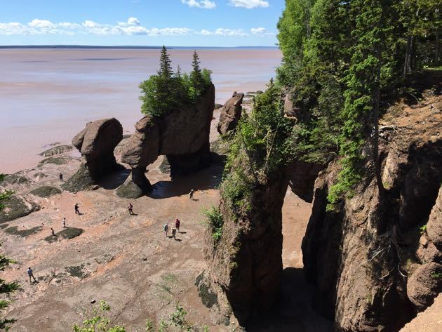
M 118 120 L 102 119 L 86 124 L 73 139 L 72 145 L 83 156 L 76 174 L 62 188 L 71 192 L 84 190 L 95 184 L 102 176 L 121 168 L 116 163 L 114 149 L 123 139 L 123 126 Z

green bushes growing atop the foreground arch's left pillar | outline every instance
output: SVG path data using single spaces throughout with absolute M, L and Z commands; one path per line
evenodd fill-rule
M 227 138 L 230 152 L 220 190 L 234 214 L 248 211 L 254 188 L 293 159 L 293 121 L 283 117 L 282 106 L 281 88 L 271 80 Z

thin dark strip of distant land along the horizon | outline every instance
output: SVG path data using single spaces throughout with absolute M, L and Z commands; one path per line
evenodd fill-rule
M 6 45 L 1 46 L 0 49 L 8 48 L 66 48 L 66 49 L 146 49 L 146 50 L 156 50 L 162 46 L 98 46 L 98 45 Z M 170 49 L 210 49 L 210 48 L 232 48 L 232 49 L 278 49 L 277 46 L 167 46 Z

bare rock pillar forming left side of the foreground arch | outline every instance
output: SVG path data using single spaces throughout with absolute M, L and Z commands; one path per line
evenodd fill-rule
M 269 310 L 279 296 L 281 208 L 287 186 L 283 172 L 256 185 L 248 199 L 249 208 L 241 213 L 234 212 L 226 201 L 220 202 L 224 225 L 219 242 L 208 246 L 206 279 L 221 303 L 223 296 L 227 298 L 240 324 L 253 312 Z

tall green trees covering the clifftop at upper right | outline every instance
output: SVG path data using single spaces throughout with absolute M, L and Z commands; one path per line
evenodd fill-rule
M 290 88 L 299 115 L 295 156 L 321 163 L 341 157 L 331 204 L 351 195 L 370 169 L 368 160 L 380 173 L 382 95 L 401 88 L 403 73 L 440 65 L 439 2 L 286 0 L 278 23 L 283 65 L 277 79 Z

